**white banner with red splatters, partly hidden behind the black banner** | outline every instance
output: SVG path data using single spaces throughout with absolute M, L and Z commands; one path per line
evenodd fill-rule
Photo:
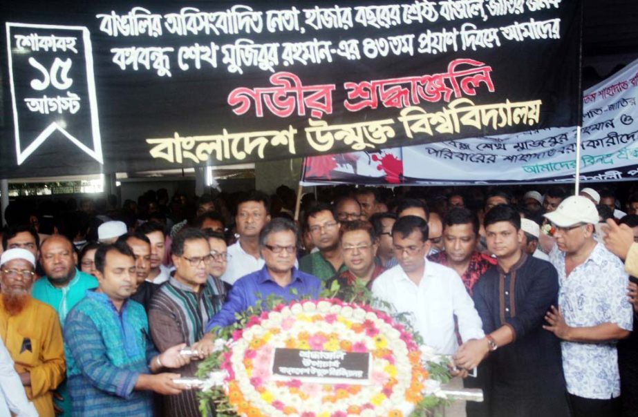
M 581 182 L 638 179 L 637 97 L 638 60 L 583 93 Z M 390 155 L 395 167 L 402 161 L 402 167 L 395 168 L 402 175 L 397 178 L 394 173 L 388 181 L 383 161 Z M 330 157 L 335 163 L 328 172 L 325 168 L 330 164 L 326 158 Z M 313 175 L 316 164 L 314 158 L 308 158 L 303 184 L 574 182 L 576 128 L 550 128 L 394 148 L 374 154 L 319 158 L 326 159 L 324 169 L 319 172 L 315 169 Z M 344 160 L 348 163 L 341 163 Z

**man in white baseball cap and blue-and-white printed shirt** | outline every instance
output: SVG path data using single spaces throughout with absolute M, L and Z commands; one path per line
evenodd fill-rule
M 543 327 L 562 340 L 572 415 L 618 416 L 616 342 L 632 329 L 628 275 L 621 260 L 594 239 L 599 217 L 587 197 L 568 197 L 545 217 L 554 229 L 550 262 L 559 273 L 560 289 L 559 308 L 547 311 Z

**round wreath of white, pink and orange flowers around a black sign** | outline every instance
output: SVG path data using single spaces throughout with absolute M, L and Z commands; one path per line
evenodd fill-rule
M 443 402 L 426 387 L 447 382 L 447 367 L 440 361 L 424 367 L 431 358 L 422 355 L 418 336 L 396 318 L 337 299 L 279 303 L 265 310 L 258 303 L 237 324 L 218 332 L 228 342 L 200 366 L 199 375 L 221 369 L 225 378 L 221 387 L 200 394 L 203 413 L 212 402 L 218 416 L 400 417 Z M 369 382 L 276 378 L 276 348 L 369 353 Z

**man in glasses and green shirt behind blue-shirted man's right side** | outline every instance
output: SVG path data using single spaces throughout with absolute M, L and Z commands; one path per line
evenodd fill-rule
M 341 223 L 328 204 L 319 203 L 306 212 L 306 229 L 310 232 L 312 244 L 319 251 L 309 253 L 299 260 L 301 271 L 327 281 L 335 274 L 346 271 L 344 255 L 339 249 L 339 229 Z

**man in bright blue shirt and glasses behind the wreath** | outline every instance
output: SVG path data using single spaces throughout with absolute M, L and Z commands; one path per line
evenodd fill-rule
M 271 294 L 285 301 L 307 296 L 314 299 L 319 297 L 319 278 L 294 267 L 299 244 L 297 236 L 297 227 L 288 219 L 279 217 L 264 226 L 259 235 L 259 247 L 265 266 L 235 282 L 221 311 L 208 322 L 207 332 L 215 327 L 233 324 L 236 320 L 235 313 L 254 306 L 257 300 L 265 299 Z M 212 338 L 208 334 L 203 342 Z

